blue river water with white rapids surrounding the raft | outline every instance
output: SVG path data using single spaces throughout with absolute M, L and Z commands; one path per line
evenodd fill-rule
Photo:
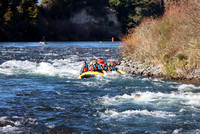
M 0 133 L 200 133 L 200 86 L 111 73 L 120 42 L 0 43 Z M 105 52 L 111 49 L 111 52 Z

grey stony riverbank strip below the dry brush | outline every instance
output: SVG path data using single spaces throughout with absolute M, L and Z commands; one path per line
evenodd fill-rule
M 184 77 L 169 77 L 163 70 L 161 65 L 145 64 L 138 61 L 127 60 L 123 58 L 118 69 L 125 71 L 128 74 L 141 75 L 144 77 L 164 78 L 167 80 L 175 80 L 186 83 L 200 83 L 200 70 L 195 69 L 192 73 L 185 75 Z

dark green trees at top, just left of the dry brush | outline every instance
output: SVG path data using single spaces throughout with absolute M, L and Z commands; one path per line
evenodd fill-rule
M 138 25 L 144 17 L 163 14 L 164 6 L 156 0 L 110 0 L 111 8 L 117 11 L 123 31 Z

